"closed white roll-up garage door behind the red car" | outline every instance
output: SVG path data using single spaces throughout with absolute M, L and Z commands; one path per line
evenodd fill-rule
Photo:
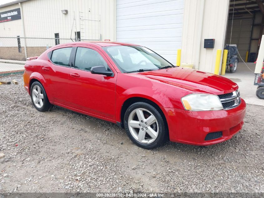
M 117 0 L 117 41 L 152 49 L 175 64 L 184 0 Z

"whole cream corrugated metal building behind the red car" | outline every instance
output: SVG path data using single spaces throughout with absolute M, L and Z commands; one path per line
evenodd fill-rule
M 2 37 L 67 39 L 77 36 L 78 40 L 110 39 L 137 43 L 151 48 L 174 64 L 177 49 L 182 49 L 181 63 L 193 63 L 193 68 L 213 73 L 217 49 L 223 50 L 230 39 L 231 25 L 227 21 L 231 20 L 233 12 L 229 7 L 232 8 L 233 2 L 234 0 L 18 0 L 0 5 L 0 13 L 16 8 L 20 8 L 22 13 L 21 20 L 2 23 L 0 20 L 0 34 Z M 244 11 L 247 13 L 256 12 L 256 15 L 248 14 L 251 17 L 243 20 L 236 19 L 238 15 L 235 13 L 232 44 L 238 44 L 242 58 L 245 58 L 246 51 L 257 51 L 259 40 L 251 37 L 259 33 L 254 33 L 256 27 L 252 28 L 252 18 L 259 21 L 257 18 L 260 9 L 254 3 L 256 4 L 246 0 L 235 2 L 236 10 L 246 8 Z M 214 48 L 204 48 L 204 39 L 207 38 L 215 39 Z M 17 45 L 16 41 L 3 42 L 2 45 Z M 54 45 L 56 41 L 36 44 L 26 39 L 26 42 L 27 46 L 45 47 Z

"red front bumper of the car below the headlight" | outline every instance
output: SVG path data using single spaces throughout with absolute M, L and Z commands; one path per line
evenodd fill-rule
M 162 107 L 168 123 L 170 140 L 200 146 L 229 140 L 242 129 L 246 103 L 241 100 L 239 106 L 230 110 L 187 111 Z M 222 131 L 222 137 L 205 140 L 208 133 L 218 131 Z

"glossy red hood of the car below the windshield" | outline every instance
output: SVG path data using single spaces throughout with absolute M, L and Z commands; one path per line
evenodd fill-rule
M 135 73 L 134 73 L 135 74 Z M 136 73 L 138 77 L 170 84 L 196 93 L 226 94 L 238 89 L 232 80 L 215 74 L 185 69 L 182 67 L 158 69 L 154 71 Z

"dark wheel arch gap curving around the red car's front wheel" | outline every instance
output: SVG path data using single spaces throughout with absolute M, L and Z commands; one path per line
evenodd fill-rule
M 121 107 L 121 111 L 120 111 L 120 121 L 121 121 L 120 122 L 120 126 L 122 128 L 124 128 L 124 115 L 126 113 L 127 108 L 131 104 L 136 103 L 136 102 L 145 102 L 145 103 L 148 103 L 148 104 L 151 104 L 152 106 L 154 106 L 160 112 L 160 114 L 162 115 L 162 117 L 163 117 L 163 119 L 165 121 L 166 126 L 168 127 L 166 117 L 165 117 L 162 109 L 159 107 L 159 105 L 157 103 L 155 103 L 154 101 L 152 101 L 150 99 L 143 98 L 143 97 L 131 97 L 131 98 L 126 99 L 124 101 L 124 103 L 122 104 L 122 107 Z

